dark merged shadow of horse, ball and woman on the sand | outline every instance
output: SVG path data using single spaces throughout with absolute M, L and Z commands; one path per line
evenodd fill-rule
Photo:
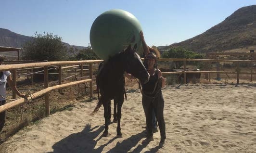
M 93 131 L 96 128 L 98 129 Z M 104 126 L 90 128 L 90 125 L 88 124 L 83 131 L 71 134 L 63 140 L 56 142 L 52 146 L 53 152 L 49 153 L 102 153 L 105 146 L 112 143 L 115 139 L 118 139 L 113 137 L 113 139 L 95 149 L 97 141 L 102 139 L 102 136 L 100 136 L 97 140 L 94 139 L 97 138 L 103 130 Z M 107 153 L 131 152 L 130 150 L 135 147 L 142 138 L 145 138 L 145 134 L 143 132 L 132 135 L 122 142 L 117 142 L 116 146 L 107 151 Z M 139 144 L 133 149 L 132 153 L 140 153 L 144 147 L 146 147 L 146 145 Z M 155 147 L 151 149 L 150 153 L 156 153 L 157 151 L 158 147 Z

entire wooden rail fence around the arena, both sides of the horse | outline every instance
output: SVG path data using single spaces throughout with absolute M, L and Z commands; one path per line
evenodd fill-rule
M 143 60 L 143 59 L 142 59 Z M 241 62 L 251 62 L 251 63 L 255 63 L 256 60 L 209 60 L 209 59 L 159 59 L 159 61 L 183 61 L 183 71 L 178 71 L 178 72 L 163 72 L 163 75 L 168 75 L 168 74 L 184 74 L 184 82 L 186 82 L 186 74 L 187 73 L 217 73 L 217 74 L 221 74 L 221 73 L 225 73 L 225 74 L 236 74 L 237 75 L 237 83 L 239 83 L 239 74 L 251 74 L 251 80 L 253 75 L 256 75 L 256 73 L 253 73 L 253 71 L 251 71 L 251 73 L 246 73 L 246 72 L 241 72 L 240 68 L 239 68 L 239 63 Z M 197 62 L 233 62 L 236 63 L 237 66 L 237 70 L 235 72 L 226 72 L 226 71 L 186 71 L 186 64 L 188 61 L 197 61 Z M 6 70 L 10 70 L 13 71 L 13 80 L 14 83 L 16 85 L 16 75 L 17 75 L 17 70 L 24 70 L 24 69 L 28 69 L 28 68 L 35 68 L 35 67 L 44 67 L 44 89 L 33 93 L 33 97 L 31 98 L 37 98 L 39 96 L 44 95 L 45 96 L 45 110 L 46 110 L 46 115 L 50 115 L 50 101 L 49 101 L 49 92 L 51 90 L 54 89 L 62 89 L 64 87 L 69 87 L 69 86 L 74 86 L 74 85 L 79 85 L 79 84 L 83 84 L 86 82 L 90 82 L 90 96 L 92 97 L 92 64 L 98 64 L 101 63 L 102 60 L 87 60 L 87 61 L 63 61 L 63 62 L 43 62 L 43 63 L 29 63 L 29 64 L 10 64 L 10 65 L 0 65 L 0 71 L 6 71 Z M 83 77 L 83 65 L 84 64 L 89 64 L 89 79 L 85 79 L 85 80 L 79 80 L 79 81 L 75 81 L 75 82 L 70 82 L 70 83 L 66 83 L 66 84 L 61 84 L 62 82 L 62 70 L 65 68 L 71 68 L 71 67 L 77 67 L 80 66 L 80 78 L 84 78 Z M 67 66 L 67 65 L 71 65 L 71 66 Z M 53 87 L 49 87 L 49 81 L 48 81 L 48 66 L 58 66 L 59 72 L 58 72 L 58 76 L 59 76 L 59 85 L 57 86 L 53 86 Z M 13 92 L 13 99 L 15 99 L 16 95 Z M 6 103 L 4 105 L 0 106 L 0 113 L 3 111 L 6 111 L 7 109 L 13 108 L 16 105 L 22 104 L 26 102 L 25 99 L 18 99 L 15 100 L 13 102 L 9 102 Z

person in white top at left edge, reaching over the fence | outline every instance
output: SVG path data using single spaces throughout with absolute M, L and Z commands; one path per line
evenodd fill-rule
M 3 64 L 3 57 L 0 56 L 0 64 Z M 20 97 L 26 98 L 25 95 L 22 95 L 16 86 L 13 83 L 10 71 L 1 71 L 0 72 L 0 105 L 5 104 L 6 97 L 6 83 L 13 89 L 13 91 Z M 6 111 L 0 113 L 0 131 L 2 130 L 4 123 L 5 123 Z

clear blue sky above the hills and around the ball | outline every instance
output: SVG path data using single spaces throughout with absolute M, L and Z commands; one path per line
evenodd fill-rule
M 180 42 L 219 24 L 255 0 L 0 0 L 0 28 L 25 36 L 52 33 L 70 45 L 88 46 L 93 21 L 122 9 L 140 22 L 148 46 Z

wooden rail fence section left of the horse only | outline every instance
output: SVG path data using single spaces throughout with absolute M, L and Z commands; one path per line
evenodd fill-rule
M 49 100 L 49 92 L 54 89 L 62 89 L 64 87 L 74 86 L 78 84 L 83 84 L 86 82 L 90 82 L 90 96 L 92 97 L 92 64 L 101 63 L 102 60 L 87 60 L 87 61 L 63 61 L 63 62 L 43 62 L 43 63 L 29 63 L 29 64 L 10 64 L 10 65 L 0 65 L 0 71 L 12 71 L 13 72 L 13 81 L 16 85 L 16 76 L 17 76 L 17 70 L 27 69 L 27 68 L 35 68 L 35 67 L 43 67 L 44 68 L 44 89 L 31 94 L 31 99 L 35 99 L 39 96 L 44 95 L 45 96 L 45 111 L 46 115 L 50 115 L 50 100 Z M 79 80 L 75 82 L 70 82 L 61 85 L 62 82 L 62 66 L 65 66 L 64 68 L 67 68 L 66 65 L 80 65 L 80 74 L 81 77 L 83 76 L 83 65 L 89 64 L 89 79 L 85 80 Z M 49 80 L 48 80 L 48 66 L 58 66 L 59 68 L 59 85 L 49 87 Z M 13 92 L 13 99 L 16 98 L 16 94 Z M 13 108 L 14 106 L 17 106 L 19 104 L 22 104 L 26 102 L 25 99 L 21 98 L 18 100 L 15 100 L 13 102 L 8 102 L 4 105 L 0 106 L 0 113 L 4 112 L 10 108 Z

